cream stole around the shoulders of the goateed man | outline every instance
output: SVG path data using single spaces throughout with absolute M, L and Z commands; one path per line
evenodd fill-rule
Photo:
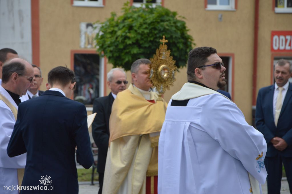
M 180 91 L 178 91 L 177 93 L 175 93 L 171 97 L 171 99 L 173 99 L 173 100 L 187 100 L 187 99 L 197 98 L 200 96 L 205 96 L 205 95 L 209 95 L 209 94 L 213 94 L 213 93 L 217 93 L 217 94 L 224 96 L 223 94 L 221 94 L 215 90 L 200 86 L 198 84 L 193 84 L 193 83 L 187 82 L 183 85 L 183 87 L 182 87 L 182 89 L 180 89 Z M 224 96 L 224 97 L 227 98 L 226 96 Z M 229 98 L 227 98 L 227 99 L 230 100 Z M 256 178 L 254 178 L 249 172 L 247 172 L 247 173 L 248 173 L 249 183 L 251 184 L 250 192 L 252 194 L 260 194 L 260 185 L 259 185 L 258 180 Z

